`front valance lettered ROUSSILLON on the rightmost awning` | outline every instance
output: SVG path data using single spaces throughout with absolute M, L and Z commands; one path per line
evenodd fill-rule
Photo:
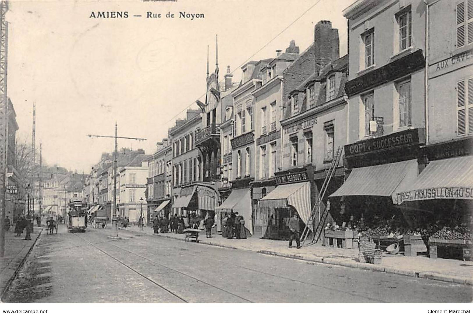
M 398 193 L 397 204 L 401 204 L 404 201 L 421 201 L 438 198 L 473 200 L 473 187 L 434 187 Z

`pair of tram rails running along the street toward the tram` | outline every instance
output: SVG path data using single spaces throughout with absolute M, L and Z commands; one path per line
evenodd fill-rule
M 85 238 L 83 238 L 83 237 L 80 237 L 80 236 L 77 235 L 77 234 L 75 234 L 75 236 L 77 236 L 78 238 L 80 238 L 82 241 L 86 242 L 89 246 L 94 247 L 95 249 L 97 249 L 97 250 L 100 251 L 101 253 L 103 253 L 103 254 L 105 254 L 106 256 L 112 258 L 112 259 L 115 260 L 116 262 L 122 264 L 123 266 L 125 266 L 126 268 L 128 268 L 129 270 L 131 270 L 132 272 L 135 272 L 135 273 L 138 274 L 140 277 L 142 277 L 142 278 L 144 278 L 144 279 L 150 281 L 151 283 L 153 283 L 154 285 L 158 286 L 159 288 L 164 289 L 166 292 L 170 293 L 170 294 L 173 295 L 174 297 L 177 297 L 178 299 L 180 299 L 180 300 L 183 301 L 184 303 L 190 303 L 188 300 L 184 299 L 184 297 L 181 297 L 181 296 L 179 296 L 177 293 L 171 291 L 170 289 L 167 289 L 167 288 L 164 287 L 162 284 L 156 282 L 155 280 L 152 280 L 151 278 L 149 278 L 149 277 L 146 276 L 145 274 L 139 272 L 138 270 L 134 269 L 134 268 L 131 267 L 130 265 L 127 265 L 126 263 L 124 263 L 123 261 L 119 260 L 119 259 L 116 258 L 115 256 L 109 254 L 109 253 L 106 252 L 105 250 L 103 250 L 103 249 L 101 249 L 100 247 L 96 246 L 94 243 L 88 241 L 87 239 L 85 239 Z M 107 241 L 105 241 L 105 242 L 107 242 Z M 102 242 L 100 242 L 100 243 L 105 243 L 105 242 L 102 241 Z M 245 297 L 239 296 L 239 295 L 237 295 L 237 294 L 235 294 L 235 293 L 233 293 L 233 292 L 230 292 L 230 291 L 228 291 L 228 290 L 226 290 L 226 289 L 220 288 L 220 287 L 218 287 L 218 286 L 216 286 L 216 285 L 213 285 L 213 284 L 211 284 L 211 283 L 209 283 L 209 282 L 206 282 L 206 281 L 204 281 L 204 280 L 201 280 L 201 279 L 199 279 L 199 278 L 196 278 L 196 277 L 194 277 L 194 276 L 192 276 L 192 275 L 189 275 L 189 274 L 187 274 L 187 273 L 185 273 L 185 272 L 181 272 L 181 271 L 179 271 L 179 270 L 176 270 L 176 269 L 174 269 L 174 268 L 172 268 L 172 267 L 169 267 L 169 266 L 167 266 L 167 265 L 164 265 L 164 264 L 162 264 L 162 263 L 158 263 L 158 262 L 156 262 L 156 261 L 153 261 L 153 260 L 149 259 L 149 258 L 146 257 L 146 256 L 137 254 L 137 253 L 132 252 L 132 251 L 130 251 L 130 250 L 127 250 L 127 249 L 125 249 L 125 248 L 123 248 L 123 247 L 121 247 L 121 246 L 117 246 L 117 245 L 111 243 L 110 241 L 108 241 L 108 244 L 111 245 L 111 246 L 114 246 L 114 247 L 116 247 L 116 248 L 118 248 L 118 249 L 120 249 L 120 250 L 122 250 L 122 251 L 124 251 L 124 252 L 127 252 L 127 253 L 129 253 L 129 254 L 138 256 L 138 257 L 140 257 L 140 258 L 142 258 L 142 259 L 144 259 L 144 260 L 146 260 L 146 261 L 148 261 L 148 262 L 150 262 L 150 263 L 154 263 L 154 264 L 159 265 L 159 266 L 161 266 L 161 267 L 164 267 L 164 268 L 166 268 L 166 269 L 168 269 L 168 270 L 170 270 L 170 271 L 173 271 L 173 272 L 179 273 L 179 274 L 181 274 L 181 275 L 183 275 L 183 276 L 185 276 L 185 277 L 188 277 L 188 278 L 190 278 L 190 279 L 192 279 L 192 280 L 196 280 L 197 282 L 201 282 L 201 283 L 203 283 L 203 284 L 205 284 L 205 285 L 207 285 L 207 286 L 210 286 L 211 288 L 218 289 L 218 290 L 220 290 L 220 291 L 222 291 L 222 292 L 224 292 L 224 293 L 227 293 L 227 294 L 229 294 L 229 295 L 232 295 L 232 296 L 234 296 L 234 297 L 237 297 L 237 298 L 239 298 L 239 299 L 242 299 L 242 300 L 244 300 L 245 302 L 248 302 L 248 303 L 255 303 L 254 301 L 251 301 L 251 300 L 249 300 L 249 299 L 247 299 L 247 298 L 245 298 Z

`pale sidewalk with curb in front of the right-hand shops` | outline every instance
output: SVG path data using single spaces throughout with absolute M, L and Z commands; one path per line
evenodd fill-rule
M 140 232 L 137 226 L 126 230 Z M 153 235 L 153 229 L 145 227 L 142 231 Z M 159 233 L 160 237 L 184 240 L 184 234 Z M 315 244 L 300 249 L 289 248 L 288 241 L 247 238 L 242 240 L 222 238 L 214 235 L 205 237 L 205 231 L 199 236 L 199 243 L 234 249 L 253 251 L 261 254 L 276 255 L 309 262 L 341 265 L 377 272 L 401 274 L 411 277 L 428 278 L 447 282 L 473 285 L 473 262 L 450 259 L 431 259 L 426 256 L 384 255 L 381 264 L 359 263 L 358 248 L 342 249 Z

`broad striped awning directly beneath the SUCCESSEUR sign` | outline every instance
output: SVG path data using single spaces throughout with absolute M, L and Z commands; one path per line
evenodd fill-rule
M 391 196 L 396 202 L 397 191 L 412 184 L 419 173 L 416 159 L 355 168 L 343 185 L 330 197 L 335 196 Z

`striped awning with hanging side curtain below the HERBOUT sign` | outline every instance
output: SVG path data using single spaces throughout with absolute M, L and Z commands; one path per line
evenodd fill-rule
M 293 206 L 306 223 L 310 216 L 310 183 L 300 182 L 277 186 L 258 203 L 260 208 Z

